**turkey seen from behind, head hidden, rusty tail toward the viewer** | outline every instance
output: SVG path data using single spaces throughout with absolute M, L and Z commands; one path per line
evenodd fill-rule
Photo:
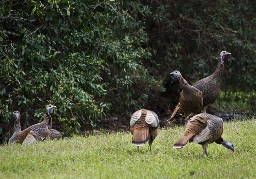
M 137 152 L 139 152 L 139 146 L 143 146 L 147 142 L 149 142 L 151 150 L 152 142 L 158 132 L 159 120 L 157 114 L 147 109 L 140 109 L 131 116 L 130 125 L 133 134 L 132 144 L 137 146 Z

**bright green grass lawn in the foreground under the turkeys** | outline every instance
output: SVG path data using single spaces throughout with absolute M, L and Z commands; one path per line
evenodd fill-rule
M 235 153 L 210 144 L 173 144 L 184 128 L 159 130 L 149 146 L 131 145 L 131 133 L 76 136 L 36 142 L 30 146 L 0 147 L 0 178 L 256 178 L 256 120 L 224 123 L 222 137 Z

